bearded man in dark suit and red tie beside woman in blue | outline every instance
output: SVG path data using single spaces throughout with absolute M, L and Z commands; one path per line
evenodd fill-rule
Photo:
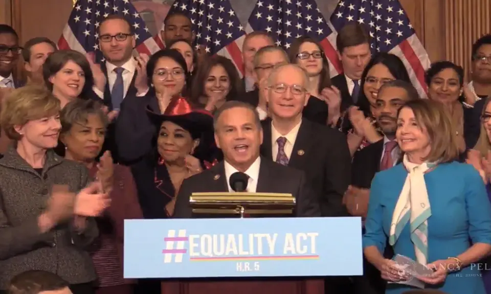
M 378 90 L 373 116 L 384 132 L 384 139 L 354 153 L 351 185 L 343 198 L 351 215 L 362 218 L 367 216 L 370 185 L 375 173 L 399 163 L 400 150 L 395 141 L 397 112 L 405 103 L 416 99 L 419 99 L 417 90 L 406 81 L 390 81 Z M 386 250 L 384 255 L 391 258 L 393 254 Z M 382 280 L 380 272 L 366 260 L 363 273 L 361 277 L 353 277 L 353 293 L 385 293 L 386 283 Z

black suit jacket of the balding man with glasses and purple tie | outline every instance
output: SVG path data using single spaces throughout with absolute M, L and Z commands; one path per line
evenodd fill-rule
M 273 159 L 271 120 L 262 123 L 261 155 Z M 343 194 L 350 184 L 351 155 L 346 135 L 325 125 L 302 120 L 288 167 L 304 171 L 318 195 L 322 216 L 345 216 Z

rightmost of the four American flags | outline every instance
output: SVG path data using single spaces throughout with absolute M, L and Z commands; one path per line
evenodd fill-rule
M 370 32 L 372 54 L 389 52 L 397 55 L 406 65 L 413 85 L 426 97 L 425 71 L 430 66 L 430 59 L 398 0 L 346 0 L 338 3 L 330 19 L 333 28 L 328 37 L 331 53 L 326 52 L 333 65 L 331 76 L 342 72 L 335 52 L 337 31 L 352 21 L 365 25 Z

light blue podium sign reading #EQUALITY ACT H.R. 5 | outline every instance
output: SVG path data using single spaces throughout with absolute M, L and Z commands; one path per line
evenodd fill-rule
M 125 278 L 363 275 L 359 217 L 124 221 Z

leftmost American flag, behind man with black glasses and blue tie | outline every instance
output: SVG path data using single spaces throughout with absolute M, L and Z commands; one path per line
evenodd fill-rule
M 139 53 L 151 55 L 160 49 L 129 0 L 78 0 L 58 40 L 58 48 L 72 49 L 84 54 L 93 52 L 97 62 L 104 61 L 99 50 L 97 29 L 101 21 L 111 14 L 123 15 L 129 21 Z

